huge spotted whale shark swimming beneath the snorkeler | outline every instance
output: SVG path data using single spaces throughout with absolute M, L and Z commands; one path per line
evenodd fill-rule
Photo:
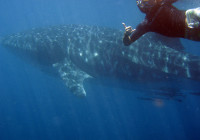
M 127 47 L 122 38 L 118 29 L 70 24 L 30 29 L 0 42 L 23 59 L 56 71 L 77 96 L 86 96 L 83 83 L 90 78 L 200 81 L 200 57 L 184 52 L 178 39 L 148 33 Z

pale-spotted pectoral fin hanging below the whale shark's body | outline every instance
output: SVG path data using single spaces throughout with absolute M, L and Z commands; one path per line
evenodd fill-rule
M 92 78 L 90 75 L 68 60 L 65 60 L 63 63 L 53 64 L 53 67 L 58 70 L 61 78 L 73 94 L 81 97 L 86 96 L 83 81 L 87 78 Z

